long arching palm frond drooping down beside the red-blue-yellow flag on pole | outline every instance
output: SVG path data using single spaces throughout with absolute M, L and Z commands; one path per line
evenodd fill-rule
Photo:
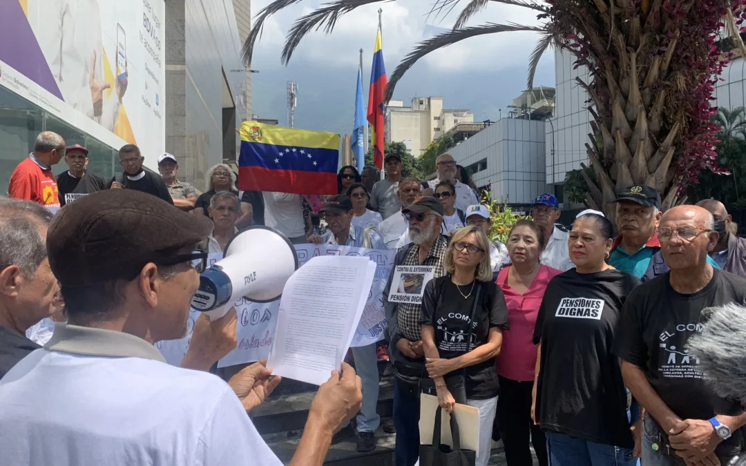
M 532 32 L 545 32 L 545 27 L 540 26 L 527 26 L 517 25 L 515 23 L 507 23 L 504 25 L 498 25 L 494 22 L 488 22 L 484 25 L 470 26 L 468 28 L 457 29 L 455 31 L 446 31 L 438 34 L 435 37 L 431 37 L 428 40 L 420 42 L 413 51 L 404 57 L 404 60 L 399 63 L 394 73 L 391 75 L 389 85 L 386 86 L 386 95 L 384 101 L 389 101 L 396 84 L 404 76 L 412 66 L 417 63 L 417 60 L 429 54 L 430 52 L 436 51 L 439 48 L 448 47 L 448 45 L 455 44 L 471 37 L 482 36 L 484 34 L 496 34 L 498 32 L 513 32 L 513 31 L 532 31 Z

